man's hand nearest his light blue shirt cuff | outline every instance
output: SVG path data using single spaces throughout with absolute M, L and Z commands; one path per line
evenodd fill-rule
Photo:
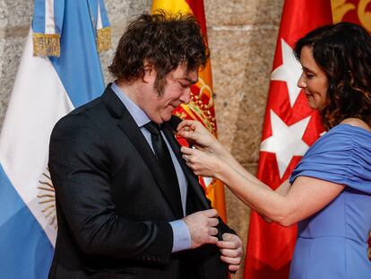
M 215 228 L 219 223 L 217 217 L 218 212 L 215 209 L 208 209 L 190 214 L 183 219 L 191 234 L 191 248 L 217 243 L 218 238 L 215 237 L 218 234 L 218 229 Z

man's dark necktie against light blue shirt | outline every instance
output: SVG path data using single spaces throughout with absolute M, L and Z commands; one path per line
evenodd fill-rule
M 151 133 L 152 147 L 160 163 L 168 187 L 173 191 L 173 193 L 180 194 L 179 184 L 177 182 L 177 172 L 174 168 L 173 161 L 171 160 L 168 145 L 165 143 L 165 140 L 161 135 L 160 125 L 151 121 L 144 125 L 144 127 Z

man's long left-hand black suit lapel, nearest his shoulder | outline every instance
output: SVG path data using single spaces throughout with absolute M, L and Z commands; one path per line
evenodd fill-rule
M 117 118 L 120 129 L 130 139 L 136 151 L 142 156 L 143 161 L 151 171 L 151 174 L 160 187 L 161 192 L 168 200 L 168 204 L 172 208 L 174 214 L 176 214 L 179 219 L 183 218 L 183 209 L 179 190 L 174 189 L 174 187 L 168 187 L 168 184 L 164 179 L 164 173 L 160 169 L 156 156 L 151 150 L 151 146 L 147 143 L 140 128 L 136 125 L 134 118 L 125 108 L 125 105 L 117 98 L 115 92 L 110 89 L 110 85 L 108 85 L 108 88 L 102 95 L 102 99 L 111 111 L 111 115 Z

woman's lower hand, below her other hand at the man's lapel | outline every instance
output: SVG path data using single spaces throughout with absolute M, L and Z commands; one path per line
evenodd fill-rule
M 194 170 L 195 175 L 214 178 L 220 172 L 221 165 L 224 163 L 217 155 L 207 151 L 186 146 L 182 146 L 180 151 L 183 153 L 186 165 Z

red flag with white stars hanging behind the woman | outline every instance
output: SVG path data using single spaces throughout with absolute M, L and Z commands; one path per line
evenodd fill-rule
M 298 86 L 301 65 L 295 42 L 308 31 L 332 23 L 330 0 L 286 0 L 277 39 L 267 101 L 258 179 L 273 189 L 289 179 L 306 150 L 324 131 Z M 297 227 L 267 223 L 252 212 L 246 248 L 245 279 L 288 278 Z

